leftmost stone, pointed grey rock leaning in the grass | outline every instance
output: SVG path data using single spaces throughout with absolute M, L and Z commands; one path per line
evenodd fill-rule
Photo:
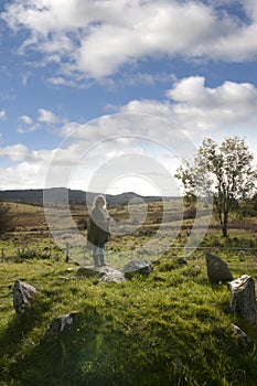
M 24 281 L 15 280 L 13 286 L 13 307 L 18 317 L 29 308 L 36 289 Z

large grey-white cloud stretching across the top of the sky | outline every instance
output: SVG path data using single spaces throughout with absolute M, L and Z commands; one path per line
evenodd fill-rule
M 73 78 L 100 78 L 146 57 L 256 58 L 256 2 L 233 4 L 240 18 L 232 1 L 14 0 L 2 19 L 17 33 L 28 32 L 21 52 L 41 52 L 43 63 L 54 62 Z

